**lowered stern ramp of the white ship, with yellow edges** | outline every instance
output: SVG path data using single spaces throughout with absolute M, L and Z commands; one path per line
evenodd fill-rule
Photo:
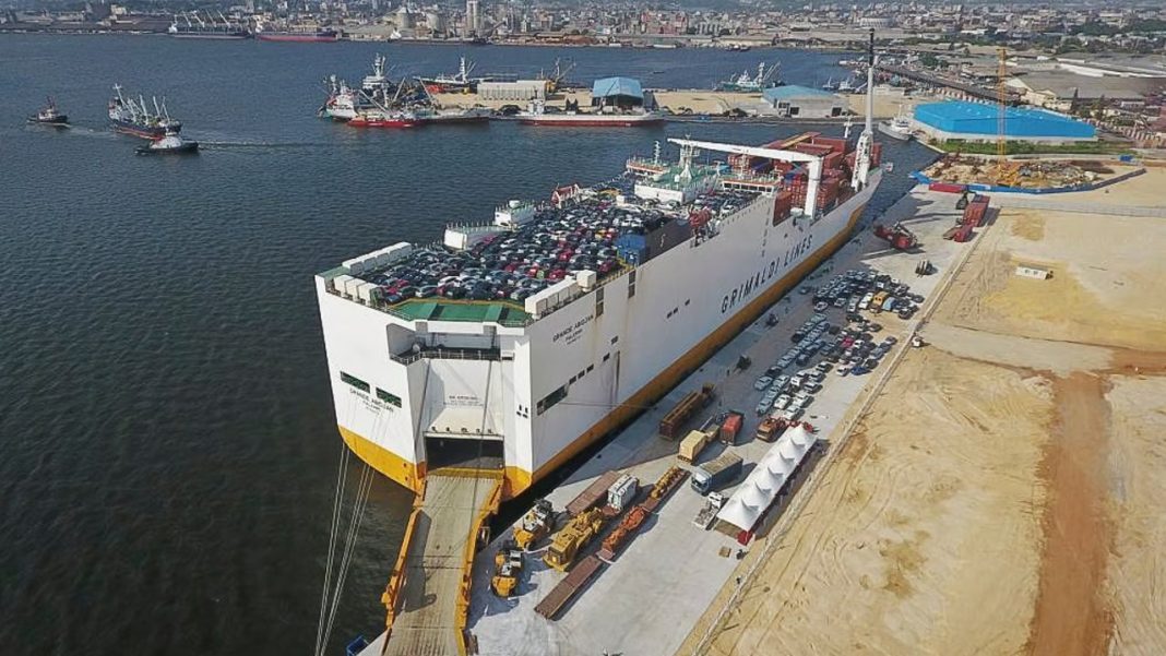
M 465 654 L 477 537 L 498 510 L 498 470 L 443 468 L 426 478 L 388 581 L 385 656 Z

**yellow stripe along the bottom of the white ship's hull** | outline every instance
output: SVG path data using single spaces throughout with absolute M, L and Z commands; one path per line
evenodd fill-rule
M 728 322 L 722 324 L 721 327 L 702 339 L 700 344 L 689 348 L 687 353 L 677 358 L 676 361 L 660 372 L 656 378 L 652 379 L 652 381 L 640 388 L 635 394 L 627 398 L 627 401 L 624 401 L 623 404 L 616 407 L 607 416 L 599 419 L 595 425 L 583 432 L 583 435 L 575 438 L 574 442 L 556 453 L 550 460 L 547 460 L 541 467 L 532 473 L 521 467 L 507 466 L 503 485 L 503 500 L 518 496 L 524 491 L 529 488 L 535 481 L 542 479 L 550 472 L 559 468 L 563 463 L 577 456 L 596 439 L 599 439 L 604 435 L 607 435 L 609 432 L 631 422 L 642 411 L 644 407 L 663 397 L 672 388 L 683 380 L 689 372 L 698 368 L 702 362 L 708 360 L 732 338 L 737 337 L 737 334 L 740 333 L 740 331 L 743 331 L 749 324 L 757 320 L 766 308 L 777 303 L 778 299 L 789 291 L 789 289 L 799 280 L 817 268 L 823 260 L 833 255 L 835 251 L 850 239 L 850 233 L 854 230 L 855 224 L 858 223 L 858 217 L 862 216 L 863 210 L 865 209 L 865 205 L 861 205 L 855 209 L 855 211 L 850 214 L 850 219 L 847 221 L 847 230 L 840 232 L 834 239 L 828 241 L 826 246 L 819 248 L 813 255 L 807 258 L 806 261 L 798 264 L 781 280 L 770 287 L 770 289 L 751 301 Z M 349 447 L 352 449 L 352 451 L 360 459 L 368 463 L 368 465 L 371 465 L 374 470 L 412 489 L 413 492 L 417 494 L 421 493 L 422 484 L 426 477 L 424 463 L 414 465 L 413 463 L 405 460 L 403 458 L 381 446 L 378 446 L 377 444 L 373 444 L 372 442 L 343 426 L 340 426 L 340 435 L 344 437 L 344 442 L 347 443 Z

